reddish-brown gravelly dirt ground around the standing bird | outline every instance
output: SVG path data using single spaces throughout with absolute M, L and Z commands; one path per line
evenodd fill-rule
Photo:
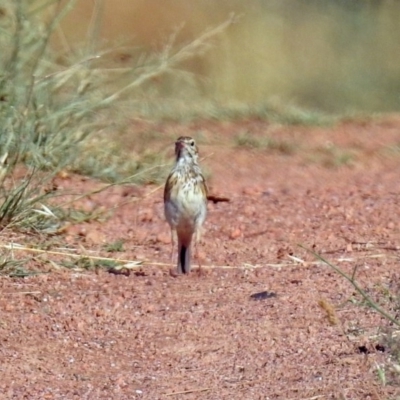
M 134 123 L 132 130 L 164 134 L 159 145 L 171 157 L 171 138 L 198 138 L 211 192 L 230 200 L 209 204 L 202 273 L 171 273 L 156 185 L 112 187 L 82 200 L 86 211 L 112 213 L 67 226 L 53 242 L 19 238 L 53 252 L 145 262 L 85 270 L 43 253 L 29 265 L 46 273 L 2 278 L 1 399 L 400 396 L 390 346 L 378 335 L 390 324 L 299 247 L 350 274 L 357 267 L 361 286 L 396 313 L 388 293 L 400 293 L 399 117 L 324 128 L 245 121 Z M 238 145 L 243 132 L 253 147 Z M 265 136 L 274 141 L 263 144 Z M 68 174 L 57 181 L 75 193 L 102 185 Z M 118 240 L 123 248 L 107 251 Z M 60 267 L 64 259 L 77 268 Z

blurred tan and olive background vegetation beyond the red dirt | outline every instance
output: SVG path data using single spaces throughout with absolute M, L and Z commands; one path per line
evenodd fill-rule
M 134 46 L 113 59 L 137 63 L 238 16 L 209 51 L 165 75 L 151 93 L 177 102 L 326 113 L 400 108 L 400 2 L 390 0 L 78 0 L 56 32 L 57 48 L 87 42 L 94 16 L 102 45 Z M 192 73 L 193 75 L 190 75 Z M 153 82 L 154 83 L 154 82 Z M 148 87 L 146 87 L 148 89 Z M 187 107 L 187 103 L 185 103 Z

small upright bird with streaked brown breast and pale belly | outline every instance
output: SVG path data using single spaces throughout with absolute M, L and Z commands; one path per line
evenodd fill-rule
M 178 238 L 178 274 L 190 272 L 193 236 L 197 255 L 197 242 L 207 216 L 208 188 L 198 158 L 195 140 L 179 137 L 175 142 L 175 165 L 164 187 L 164 213 L 171 228 L 171 258 L 174 236 Z

